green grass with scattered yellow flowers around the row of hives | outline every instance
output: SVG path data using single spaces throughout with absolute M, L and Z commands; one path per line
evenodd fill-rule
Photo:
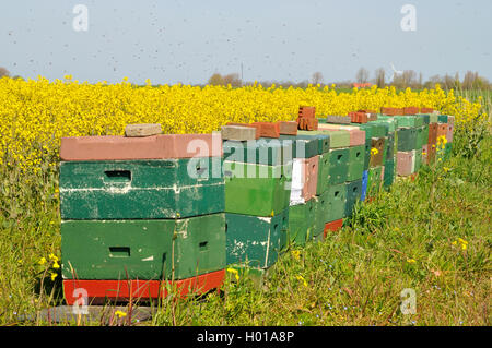
M 485 134 L 472 151 L 455 146 L 448 161 L 358 205 L 342 230 L 308 243 L 298 260 L 286 252 L 262 285 L 244 276 L 236 284 L 227 274 L 222 293 L 168 297 L 142 324 L 490 325 L 492 137 Z M 455 143 L 468 136 L 458 132 Z M 19 315 L 62 303 L 59 269 L 49 259 L 60 256 L 57 180 L 56 169 L 21 176 L 0 167 L 0 325 L 49 324 Z M 408 288 L 417 313 L 406 315 L 400 293 Z

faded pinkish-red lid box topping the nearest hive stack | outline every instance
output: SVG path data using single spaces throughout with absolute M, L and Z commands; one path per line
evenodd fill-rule
M 61 160 L 127 160 L 221 157 L 221 133 L 62 137 Z

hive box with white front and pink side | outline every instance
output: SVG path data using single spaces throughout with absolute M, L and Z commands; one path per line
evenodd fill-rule
M 305 203 L 316 195 L 318 166 L 319 155 L 311 158 L 294 158 L 290 205 Z

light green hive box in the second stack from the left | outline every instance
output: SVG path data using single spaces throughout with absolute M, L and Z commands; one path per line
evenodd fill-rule
M 263 166 L 224 161 L 225 213 L 272 216 L 289 206 L 292 163 Z

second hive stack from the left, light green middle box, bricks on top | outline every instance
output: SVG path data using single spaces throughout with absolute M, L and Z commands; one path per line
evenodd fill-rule
M 297 124 L 292 123 L 277 123 L 271 132 L 261 128 L 271 129 L 273 123 L 249 128 L 250 136 L 230 136 L 227 128 L 222 129 L 226 264 L 231 267 L 261 275 L 288 244 L 292 144 L 279 136 L 281 131 L 292 133 L 292 125 L 296 132 Z M 290 130 L 283 131 L 284 125 Z M 256 139 L 257 132 L 268 137 Z

